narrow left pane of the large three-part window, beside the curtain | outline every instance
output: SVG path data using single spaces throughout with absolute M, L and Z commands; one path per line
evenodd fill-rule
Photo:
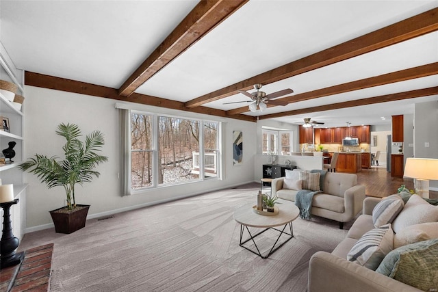
M 152 185 L 152 117 L 131 114 L 131 188 Z

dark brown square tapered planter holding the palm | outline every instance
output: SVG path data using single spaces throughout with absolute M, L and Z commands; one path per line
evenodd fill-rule
M 77 204 L 77 207 L 82 208 L 75 211 L 67 212 L 61 211 L 66 209 L 66 207 L 62 207 L 60 209 L 49 211 L 53 220 L 53 224 L 55 224 L 56 233 L 70 234 L 74 233 L 76 230 L 85 227 L 90 205 Z

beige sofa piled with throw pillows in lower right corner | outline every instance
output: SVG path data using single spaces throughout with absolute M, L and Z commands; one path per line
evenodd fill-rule
M 368 263 L 361 262 L 359 264 L 354 261 L 353 254 L 355 252 L 352 252 L 355 245 L 359 245 L 358 241 L 366 240 L 367 236 L 370 237 L 370 234 L 379 225 L 376 221 L 377 212 L 375 207 L 382 202 L 382 199 L 365 198 L 363 201 L 363 214 L 352 224 L 346 238 L 337 245 L 332 253 L 316 252 L 311 257 L 308 292 L 438 291 L 438 206 L 430 207 L 432 205 L 426 203 L 430 205 L 427 207 L 428 211 L 415 209 L 423 208 L 423 202 L 425 201 L 417 195 L 410 197 L 412 199 L 404 200 L 407 201 L 404 206 L 401 204 L 402 209 L 398 210 L 400 214 L 394 213 L 396 217 L 386 211 L 387 222 L 391 222 L 392 226 L 397 227 L 397 229 L 392 230 L 391 224 L 389 224 L 389 230 L 385 233 L 385 237 L 389 236 L 387 239 L 389 239 L 389 245 L 391 245 L 389 250 L 386 251 L 389 253 L 382 253 L 381 250 L 378 250 L 381 248 L 381 243 L 379 243 L 373 255 L 377 255 L 378 261 L 374 260 L 372 263 L 372 261 L 367 260 L 368 263 L 374 265 L 374 268 L 366 267 Z M 397 201 L 395 198 L 391 199 Z M 421 205 L 417 206 L 410 203 L 411 200 L 414 201 L 413 199 L 415 199 L 415 202 L 423 202 L 420 202 Z M 391 202 L 391 204 L 394 208 L 394 202 Z M 382 203 L 381 205 L 383 206 Z M 407 209 L 409 211 L 406 211 Z M 415 215 L 412 216 L 412 214 Z M 401 220 L 401 222 L 396 220 Z M 385 223 L 381 222 L 381 224 Z M 398 232 L 394 233 L 395 230 Z M 375 243 L 372 246 L 375 246 Z M 420 256 L 415 258 L 415 254 L 420 254 Z M 370 256 L 370 253 L 368 252 L 367 255 Z M 428 259 L 428 262 L 426 262 L 426 259 Z M 410 261 L 409 264 L 406 264 L 407 260 Z M 424 267 L 428 267 L 428 269 L 424 269 Z M 418 278 L 413 280 L 415 277 Z M 409 284 L 406 284 L 407 282 Z M 410 284 L 415 287 L 424 286 L 419 287 L 422 289 L 420 290 Z

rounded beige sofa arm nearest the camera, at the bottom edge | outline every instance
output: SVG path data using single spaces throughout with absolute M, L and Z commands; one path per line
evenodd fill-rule
M 308 292 L 421 291 L 328 252 L 316 252 L 309 262 Z

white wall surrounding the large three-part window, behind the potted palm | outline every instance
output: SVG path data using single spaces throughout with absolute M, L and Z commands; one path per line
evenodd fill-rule
M 92 183 L 78 186 L 76 189 L 77 204 L 90 204 L 89 218 L 109 215 L 118 211 L 126 211 L 149 204 L 202 194 L 212 189 L 222 189 L 254 180 L 254 163 L 256 152 L 256 127 L 254 122 L 235 119 L 218 118 L 176 111 L 160 107 L 136 105 L 144 111 L 159 114 L 175 114 L 189 118 L 209 118 L 224 121 L 224 179 L 190 183 L 186 187 L 159 187 L 144 194 L 120 196 L 119 169 L 119 130 L 116 101 L 74 94 L 57 90 L 47 90 L 32 86 L 25 87 L 25 153 L 24 157 L 34 154 L 57 155 L 62 157 L 64 138 L 55 134 L 61 122 L 78 124 L 83 135 L 94 130 L 105 134 L 103 155 L 109 161 L 99 165 L 99 178 Z M 243 131 L 244 157 L 240 166 L 233 166 L 233 131 Z M 52 226 L 49 211 L 65 205 L 65 192 L 62 187 L 47 189 L 33 174 L 25 174 L 27 189 L 27 232 Z

